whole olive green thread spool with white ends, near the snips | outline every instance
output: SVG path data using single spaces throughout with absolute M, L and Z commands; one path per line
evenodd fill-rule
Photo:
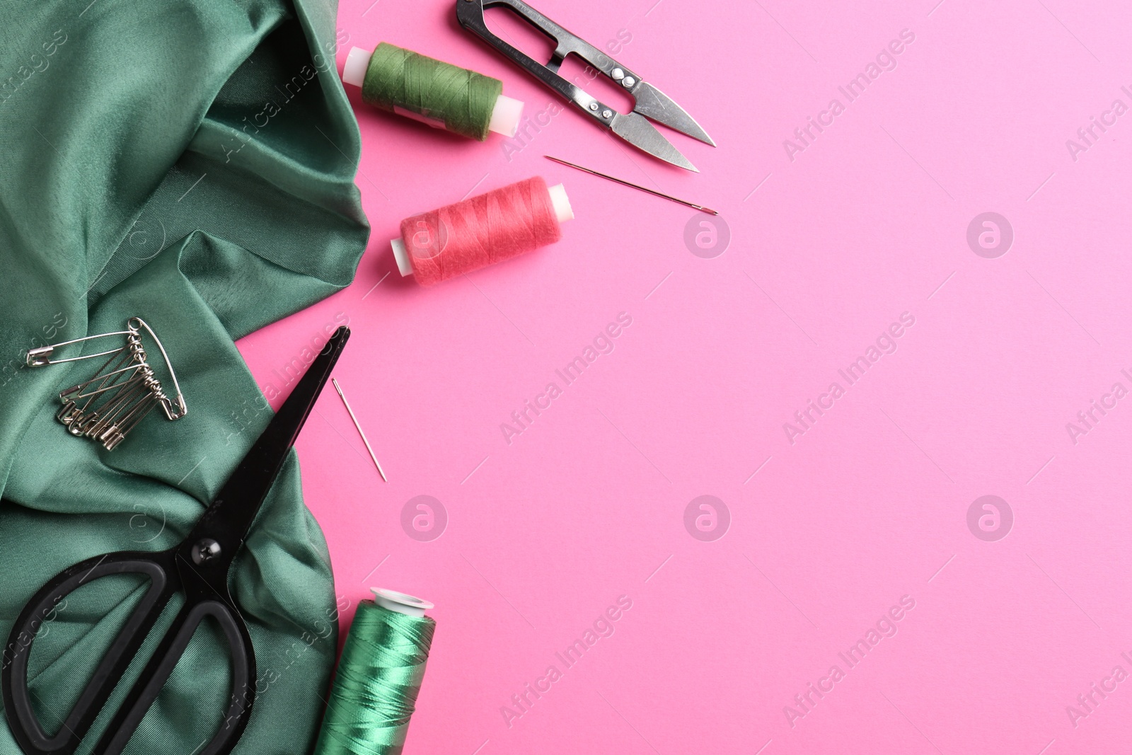
M 360 86 L 363 102 L 480 141 L 488 131 L 515 136 L 523 114 L 499 79 L 388 42 L 350 50 L 342 80 Z

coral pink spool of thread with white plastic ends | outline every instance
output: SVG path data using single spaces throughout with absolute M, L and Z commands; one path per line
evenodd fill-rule
M 535 175 L 406 217 L 389 246 L 402 275 L 432 285 L 554 243 L 572 217 L 565 187 Z

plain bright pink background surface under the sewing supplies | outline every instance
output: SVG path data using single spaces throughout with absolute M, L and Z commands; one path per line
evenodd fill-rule
M 351 91 L 374 226 L 358 278 L 240 344 L 259 384 L 283 387 L 275 370 L 349 317 L 335 374 L 389 482 L 333 391 L 299 453 L 338 594 L 437 603 L 406 753 L 1125 746 L 1132 680 L 1105 679 L 1132 674 L 1132 398 L 1095 410 L 1075 443 L 1066 423 L 1114 383 L 1132 389 L 1132 114 L 1075 160 L 1065 141 L 1132 105 L 1132 10 L 537 5 L 598 46 L 632 37 L 615 57 L 719 144 L 662 129 L 702 172 L 564 105 L 507 149 Z M 501 78 L 531 117 L 557 102 L 460 29 L 452 0 L 343 0 L 338 26 L 340 66 L 384 40 Z M 838 87 L 902 29 L 915 41 L 897 68 L 848 102 Z M 791 161 L 783 140 L 834 97 L 844 112 Z M 693 211 L 543 154 L 715 207 L 730 244 L 697 257 Z M 569 192 L 561 242 L 434 289 L 400 278 L 387 240 L 402 217 L 533 174 Z M 997 258 L 967 241 L 985 212 L 1013 229 Z M 623 311 L 612 353 L 508 445 L 500 423 Z M 849 386 L 838 370 L 902 312 L 915 325 L 897 351 Z M 833 381 L 844 395 L 791 444 L 783 423 Z M 429 542 L 401 524 L 419 495 L 448 517 Z M 714 541 L 685 529 L 702 495 L 730 513 Z M 986 495 L 1013 513 L 996 541 L 968 526 Z M 619 595 L 632 609 L 567 669 L 555 653 Z M 897 634 L 849 668 L 839 653 L 904 595 Z M 550 664 L 561 678 L 508 726 L 500 707 L 518 712 L 512 695 Z M 843 678 L 798 706 L 834 664 Z M 1116 686 L 1084 707 L 1091 684 Z

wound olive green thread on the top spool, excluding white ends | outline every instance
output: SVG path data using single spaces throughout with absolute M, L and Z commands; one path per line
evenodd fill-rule
M 483 141 L 503 81 L 383 42 L 374 50 L 361 98 L 383 110 L 402 109 Z

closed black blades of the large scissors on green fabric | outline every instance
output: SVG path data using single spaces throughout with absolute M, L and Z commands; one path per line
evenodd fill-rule
M 315 407 L 318 394 L 329 379 L 331 370 L 338 361 L 338 354 L 349 337 L 350 328 L 340 327 L 326 342 L 294 391 L 267 423 L 263 435 L 232 472 L 212 505 L 201 514 L 196 527 L 185 540 L 182 548 L 186 552 L 190 552 L 201 538 L 208 538 L 220 544 L 220 557 L 214 560 L 217 564 L 231 563 L 243 543 L 259 506 L 283 469 L 288 453 Z

